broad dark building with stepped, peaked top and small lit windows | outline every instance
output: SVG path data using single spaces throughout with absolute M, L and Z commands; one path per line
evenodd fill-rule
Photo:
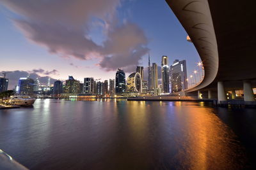
M 80 81 L 75 80 L 73 76 L 68 76 L 65 83 L 65 93 L 79 94 L 81 92 Z

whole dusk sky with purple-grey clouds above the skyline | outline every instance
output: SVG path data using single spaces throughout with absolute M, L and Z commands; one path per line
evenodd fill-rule
M 126 76 L 161 56 L 186 59 L 188 75 L 200 59 L 164 0 L 0 0 L 0 71 L 19 76 L 68 75 L 108 80 L 118 67 Z M 15 72 L 14 72 L 15 71 Z M 145 69 L 147 71 L 147 69 Z

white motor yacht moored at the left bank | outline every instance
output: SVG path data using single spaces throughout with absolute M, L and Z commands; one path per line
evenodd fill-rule
M 9 103 L 18 106 L 31 106 L 34 104 L 35 100 L 35 98 L 30 96 L 11 96 Z

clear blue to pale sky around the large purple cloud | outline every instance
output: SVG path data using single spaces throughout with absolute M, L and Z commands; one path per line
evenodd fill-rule
M 168 8 L 165 1 L 147 2 L 122 1 L 120 6 L 115 6 L 115 15 L 118 16 L 118 22 L 121 25 L 125 25 L 125 22 L 131 22 L 136 25 L 142 31 L 141 34 L 145 35 L 147 39 L 145 46 L 148 48 L 147 52 L 139 57 L 138 64 L 130 64 L 132 67 L 129 68 L 120 65 L 120 68 L 124 69 L 125 73 L 132 73 L 136 66 L 143 66 L 146 70 L 148 53 L 150 53 L 151 62 L 156 62 L 158 66 L 160 65 L 159 57 L 167 55 L 169 60 L 188 60 L 188 71 L 192 71 L 195 68 L 195 63 L 200 59 L 193 44 L 186 41 L 186 31 L 184 31 L 175 15 L 170 13 L 170 8 Z M 113 3 L 116 3 L 116 1 Z M 102 80 L 115 78 L 113 75 L 115 75 L 115 71 L 118 68 L 118 63 L 116 63 L 115 69 L 113 68 L 109 71 L 99 66 L 99 60 L 102 58 L 93 58 L 91 60 L 77 59 L 77 57 L 63 58 L 58 53 L 50 53 L 49 46 L 38 45 L 33 39 L 26 38 L 28 35 L 20 31 L 19 27 L 13 23 L 13 18 L 24 17 L 24 14 L 13 10 L 12 6 L 13 4 L 4 2 L 0 7 L 0 21 L 3 23 L 0 35 L 3 37 L 3 40 L 0 41 L 3 62 L 0 63 L 0 71 L 17 71 L 22 76 L 27 76 L 26 73 L 45 77 L 50 76 L 56 80 L 65 80 L 68 75 L 76 76 L 79 81 L 83 81 L 84 77 L 102 78 Z M 142 6 L 145 8 L 145 14 L 143 15 L 139 13 Z M 127 15 L 129 13 L 127 11 L 131 10 L 132 14 Z M 106 11 L 106 13 L 109 13 L 109 11 Z M 159 18 L 154 17 L 156 13 L 160 16 Z M 42 15 L 46 14 L 42 13 Z M 166 26 L 154 26 L 152 23 L 155 21 L 159 25 L 164 23 Z M 95 24 L 96 21 L 93 23 Z M 89 25 L 92 26 L 93 24 L 89 23 Z M 86 36 L 90 36 L 93 41 L 100 44 L 106 39 L 106 36 L 104 37 L 104 34 L 102 34 L 102 29 L 99 25 L 94 25 Z M 127 27 L 127 30 L 131 31 L 131 29 L 131 27 Z M 159 32 L 159 30 L 161 31 Z M 101 36 L 97 37 L 99 32 Z M 186 50 L 182 50 L 184 48 Z M 131 55 L 126 55 L 125 59 L 129 59 L 129 57 Z M 122 58 L 120 59 L 122 60 Z M 29 64 L 26 62 L 27 60 L 29 60 Z M 115 61 L 119 62 L 118 60 Z M 11 74 L 8 76 L 10 78 Z M 10 78 L 10 81 L 10 84 L 12 84 L 12 78 Z

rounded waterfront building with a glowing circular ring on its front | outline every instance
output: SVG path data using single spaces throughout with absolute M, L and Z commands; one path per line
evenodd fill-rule
M 142 80 L 140 73 L 132 73 L 127 78 L 127 92 L 142 93 Z

